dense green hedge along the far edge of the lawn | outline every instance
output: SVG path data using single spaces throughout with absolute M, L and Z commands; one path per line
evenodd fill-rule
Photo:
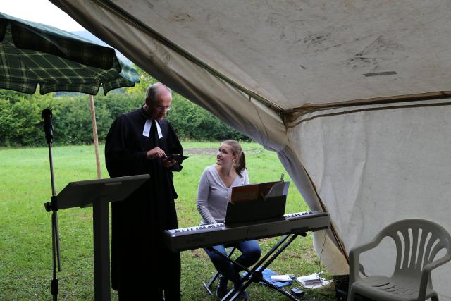
M 70 94 L 74 95 L 74 94 Z M 99 141 L 106 138 L 113 120 L 139 108 L 144 94 L 110 92 L 94 97 Z M 45 145 L 41 113 L 49 108 L 53 113 L 54 143 L 80 145 L 92 143 L 89 95 L 54 97 L 53 94 L 27 95 L 0 90 L 0 146 Z M 208 111 L 173 92 L 173 110 L 168 112 L 181 139 L 189 140 L 250 140 Z

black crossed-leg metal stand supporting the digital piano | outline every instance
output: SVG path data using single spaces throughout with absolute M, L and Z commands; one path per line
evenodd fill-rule
M 280 255 L 280 253 L 282 253 L 295 240 L 295 238 L 297 238 L 298 235 L 305 236 L 306 233 L 305 233 L 305 231 L 297 231 L 296 233 L 285 235 L 282 239 L 280 239 L 278 241 L 277 245 L 275 245 L 271 250 L 269 250 L 264 255 L 264 257 L 261 258 L 259 260 L 259 262 L 257 262 L 257 264 L 254 264 L 254 268 L 252 268 L 250 271 L 249 271 L 249 269 L 245 268 L 245 266 L 242 266 L 242 264 L 236 262 L 233 259 L 230 259 L 230 257 L 227 257 L 225 254 L 219 252 L 218 250 L 214 249 L 213 247 L 209 247 L 209 250 L 214 251 L 216 254 L 218 254 L 219 256 L 228 260 L 229 262 L 232 262 L 233 264 L 240 266 L 240 268 L 243 271 L 247 271 L 246 276 L 244 276 L 240 281 L 240 284 L 241 284 L 240 288 L 237 290 L 235 288 L 232 288 L 231 290 L 229 290 L 228 293 L 221 299 L 221 301 L 235 300 L 238 297 L 238 295 L 240 295 L 240 293 L 242 291 L 244 291 L 252 282 L 257 282 L 257 283 L 264 282 L 264 283 L 266 283 L 266 285 L 268 285 L 269 288 L 277 290 L 279 293 L 285 295 L 286 297 L 289 297 L 291 300 L 299 301 L 299 299 L 297 299 L 295 296 L 288 293 L 286 290 L 283 290 L 283 289 L 279 288 L 278 286 L 273 285 L 273 283 L 271 283 L 263 278 L 264 269 L 266 269 L 266 267 L 268 267 L 269 264 L 271 264 L 274 261 L 274 259 L 276 259 Z M 279 247 L 280 247 L 280 249 L 279 249 Z M 259 269 L 259 271 L 257 271 L 259 266 L 261 266 L 261 269 Z M 229 297 L 230 297 L 230 299 L 228 299 Z

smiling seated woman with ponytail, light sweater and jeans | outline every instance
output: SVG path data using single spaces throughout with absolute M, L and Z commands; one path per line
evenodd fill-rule
M 249 184 L 249 178 L 247 177 L 245 154 L 242 152 L 240 144 L 235 140 L 222 142 L 218 154 L 216 154 L 216 164 L 206 167 L 199 181 L 197 210 L 202 216 L 201 225 L 223 223 L 226 219 L 227 203 L 230 202 L 232 188 L 247 184 Z M 257 240 L 238 242 L 228 245 L 228 247 L 237 247 L 242 252 L 236 261 L 245 267 L 255 264 L 261 255 Z M 224 245 L 215 245 L 214 249 L 226 254 Z M 218 278 L 216 295 L 223 297 L 228 292 L 229 280 L 235 284 L 235 288 L 237 287 L 241 279 L 239 274 L 241 269 L 214 251 L 204 250 L 216 270 L 221 274 Z M 243 291 L 238 297 L 247 299 L 247 292 Z

